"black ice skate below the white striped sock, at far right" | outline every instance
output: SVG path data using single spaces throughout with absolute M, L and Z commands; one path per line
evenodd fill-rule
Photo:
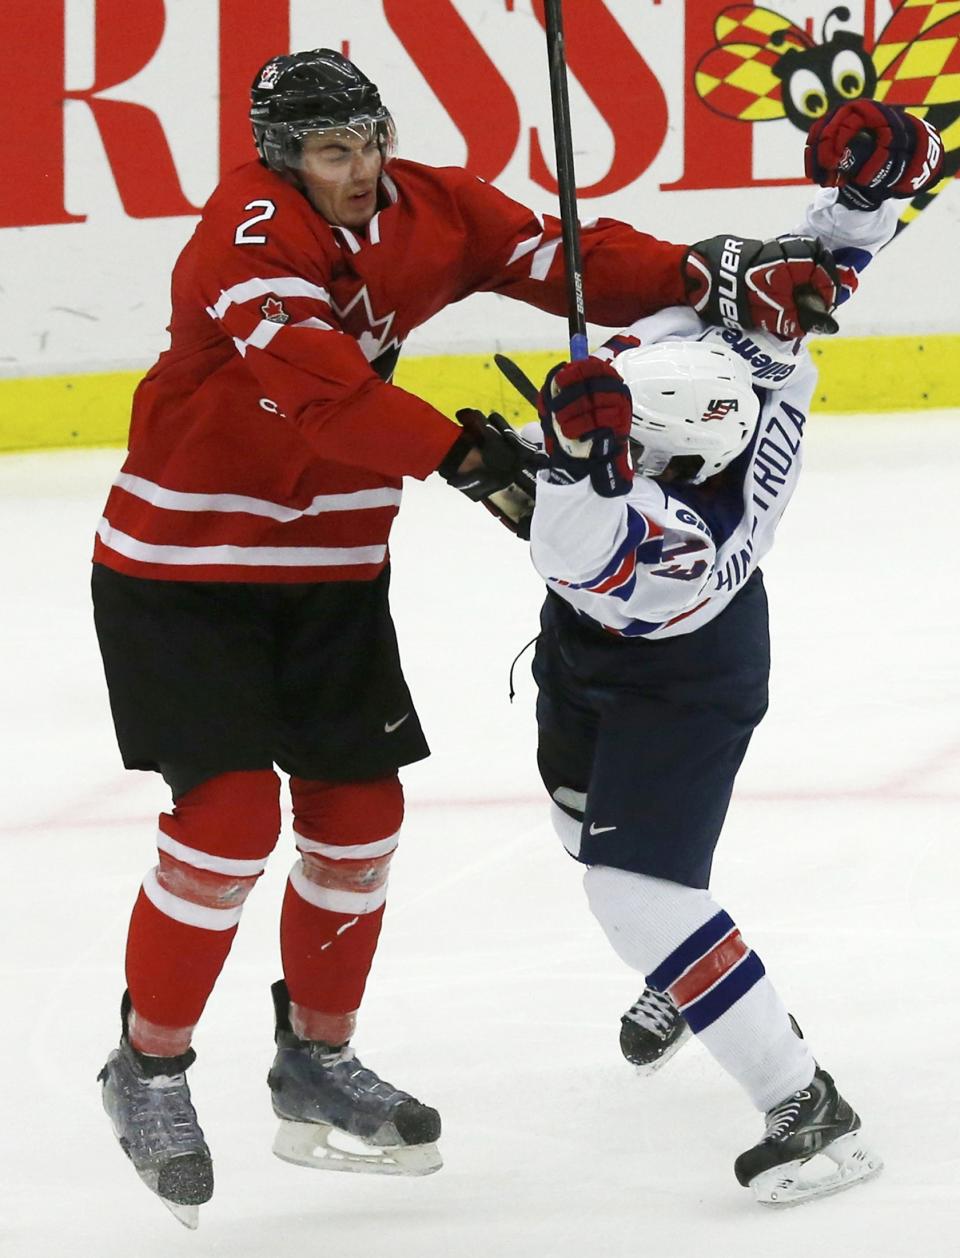
M 858 1116 L 818 1067 L 805 1088 L 767 1111 L 764 1138 L 737 1157 L 734 1171 L 764 1205 L 799 1205 L 839 1193 L 883 1167 L 859 1127 Z

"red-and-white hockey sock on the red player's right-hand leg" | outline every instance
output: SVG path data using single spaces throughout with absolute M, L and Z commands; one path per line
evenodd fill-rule
M 299 860 L 281 918 L 291 1025 L 303 1039 L 350 1039 L 376 951 L 404 796 L 372 782 L 291 779 Z

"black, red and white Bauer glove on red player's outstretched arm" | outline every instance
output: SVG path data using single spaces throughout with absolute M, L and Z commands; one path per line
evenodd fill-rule
M 837 331 L 837 265 L 815 237 L 712 237 L 687 250 L 683 278 L 687 303 L 707 323 L 761 328 L 781 341 Z

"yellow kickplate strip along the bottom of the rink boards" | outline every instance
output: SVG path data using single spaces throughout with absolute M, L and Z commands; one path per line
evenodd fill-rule
M 960 336 L 862 337 L 825 341 L 812 351 L 820 370 L 815 409 L 830 413 L 960 406 Z M 512 355 L 540 381 L 561 348 Z M 138 371 L 0 380 L 0 450 L 122 445 Z M 531 411 L 491 355 L 411 357 L 396 384 L 453 416 L 460 406 L 498 410 L 515 423 Z

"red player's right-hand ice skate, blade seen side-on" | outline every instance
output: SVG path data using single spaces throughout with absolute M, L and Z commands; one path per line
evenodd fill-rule
M 281 1120 L 273 1152 L 297 1166 L 429 1175 L 443 1165 L 440 1116 L 367 1069 L 349 1044 L 299 1039 L 274 982 L 277 1055 L 267 1077 Z

